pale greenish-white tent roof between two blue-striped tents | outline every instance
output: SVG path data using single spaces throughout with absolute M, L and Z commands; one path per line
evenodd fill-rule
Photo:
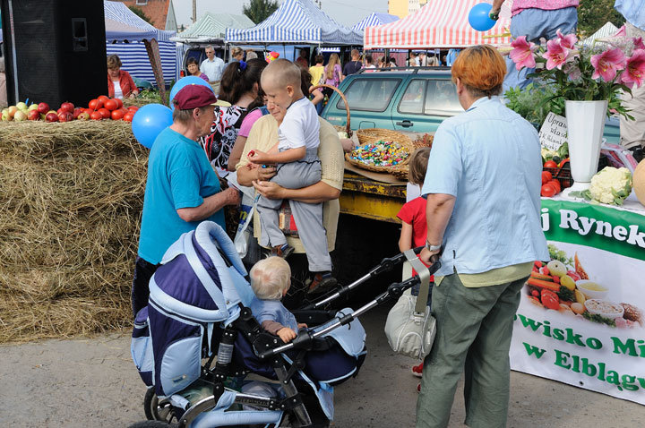
M 244 30 L 254 25 L 254 21 L 246 15 L 207 12 L 184 32 L 177 34 L 174 40 L 182 43 L 200 43 L 220 39 L 223 42 L 227 29 Z

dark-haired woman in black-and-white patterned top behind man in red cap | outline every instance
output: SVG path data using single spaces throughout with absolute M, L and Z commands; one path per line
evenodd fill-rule
M 266 65 L 263 59 L 255 58 L 248 63 L 239 61 L 228 64 L 224 70 L 219 99 L 228 101 L 231 106 L 215 107 L 211 133 L 200 140 L 214 167 L 227 169 L 230 151 L 249 111 L 249 105 L 258 96 L 260 76 Z

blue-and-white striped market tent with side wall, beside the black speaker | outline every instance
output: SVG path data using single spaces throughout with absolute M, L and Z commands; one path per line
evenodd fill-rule
M 170 39 L 174 31 L 158 30 L 143 21 L 120 2 L 104 2 L 106 21 L 107 55 L 116 54 L 123 63 L 123 69 L 139 79 L 155 82 L 150 64 L 146 41 L 156 40 L 164 81 L 177 79 L 176 44 Z

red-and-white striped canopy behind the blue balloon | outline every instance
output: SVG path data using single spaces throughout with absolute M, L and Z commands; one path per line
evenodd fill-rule
M 418 49 L 511 43 L 510 37 L 501 36 L 511 27 L 509 13 L 502 13 L 502 17 L 491 30 L 477 31 L 470 27 L 468 15 L 470 9 L 478 3 L 483 2 L 482 0 L 428 0 L 428 3 L 417 13 L 400 21 L 378 27 L 367 27 L 364 36 L 365 48 Z M 497 37 L 487 38 L 486 36 Z

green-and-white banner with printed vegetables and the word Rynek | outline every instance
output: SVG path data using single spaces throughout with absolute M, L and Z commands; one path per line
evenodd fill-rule
M 645 404 L 645 216 L 542 200 L 550 260 L 515 317 L 512 370 Z

